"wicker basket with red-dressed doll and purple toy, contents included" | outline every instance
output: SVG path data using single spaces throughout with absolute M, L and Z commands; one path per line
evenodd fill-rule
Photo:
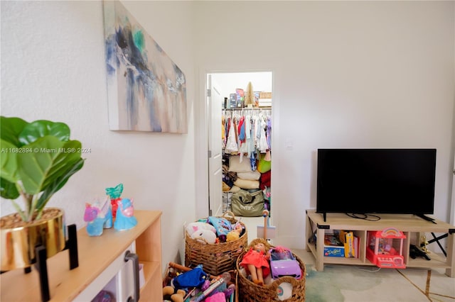
M 289 272 L 291 273 L 279 272 L 282 265 L 274 266 L 273 262 L 279 261 L 277 260 L 279 257 L 273 259 L 269 255 L 269 251 L 278 249 L 278 247 L 269 245 L 267 240 L 257 238 L 252 240 L 245 252 L 237 258 L 237 289 L 242 302 L 305 301 L 306 268 L 304 262 L 289 250 L 280 250 L 279 253 L 282 255 L 291 254 L 289 262 L 291 264 Z M 282 259 L 288 261 L 285 257 Z M 264 266 L 257 269 L 257 263 Z

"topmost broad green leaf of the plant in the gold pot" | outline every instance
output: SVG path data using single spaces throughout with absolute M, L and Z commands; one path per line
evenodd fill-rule
M 67 142 L 70 140 L 70 128 L 65 123 L 54 123 L 45 120 L 34 121 L 23 128 L 18 140 L 21 144 L 28 145 L 47 135 L 55 136 L 55 138 Z

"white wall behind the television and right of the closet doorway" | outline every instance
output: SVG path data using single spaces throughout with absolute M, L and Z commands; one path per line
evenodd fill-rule
M 453 1 L 203 1 L 196 7 L 201 73 L 274 72 L 274 243 L 304 248 L 304 214 L 316 207 L 322 147 L 437 148 L 434 214 L 449 220 Z

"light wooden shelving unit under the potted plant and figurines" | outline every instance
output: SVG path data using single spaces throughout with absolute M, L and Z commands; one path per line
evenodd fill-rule
M 77 231 L 79 267 L 70 270 L 68 250 L 47 260 L 50 301 L 87 301 L 119 274 L 127 250 L 144 264 L 140 301 L 162 300 L 161 211 L 134 211 L 138 224 L 131 230 L 107 229 L 90 237 L 85 228 Z M 41 301 L 38 272 L 23 269 L 0 275 L 0 301 Z

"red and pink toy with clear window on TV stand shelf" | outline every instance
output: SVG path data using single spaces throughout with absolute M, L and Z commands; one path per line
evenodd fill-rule
M 403 240 L 406 238 L 396 228 L 368 232 L 367 259 L 377 267 L 405 269 Z

